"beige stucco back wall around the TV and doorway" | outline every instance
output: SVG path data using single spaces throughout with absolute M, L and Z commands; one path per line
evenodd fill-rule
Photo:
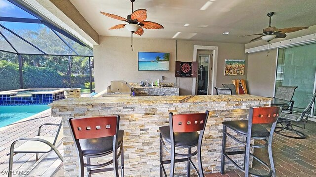
M 140 82 L 148 79 L 148 82 L 151 82 L 165 76 L 165 82 L 176 80 L 180 95 L 192 94 L 191 78 L 175 79 L 176 40 L 134 38 L 134 51 L 130 47 L 130 38 L 100 36 L 99 40 L 100 45 L 94 46 L 96 92 L 106 89 L 111 80 Z M 244 44 L 178 40 L 177 60 L 192 61 L 194 45 L 218 46 L 216 86 L 231 83 L 232 79 L 246 79 L 246 75 L 224 76 L 225 59 L 246 59 L 247 64 Z M 138 71 L 139 51 L 170 52 L 169 71 Z

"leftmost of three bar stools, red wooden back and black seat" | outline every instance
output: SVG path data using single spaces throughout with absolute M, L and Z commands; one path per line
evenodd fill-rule
M 84 176 L 84 167 L 88 177 L 91 174 L 114 170 L 115 177 L 124 177 L 124 130 L 119 130 L 119 116 L 70 118 L 68 120 L 72 137 L 75 141 L 79 157 L 79 177 Z M 118 148 L 119 152 L 118 152 Z M 112 159 L 101 164 L 91 164 L 90 158 L 107 156 L 112 153 Z M 118 157 L 121 157 L 121 166 L 118 167 Z M 86 157 L 84 163 L 83 157 Z M 113 168 L 102 168 L 113 163 Z

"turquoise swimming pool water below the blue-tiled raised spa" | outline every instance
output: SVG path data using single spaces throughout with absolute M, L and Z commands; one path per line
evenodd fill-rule
M 0 127 L 49 109 L 47 105 L 0 106 Z

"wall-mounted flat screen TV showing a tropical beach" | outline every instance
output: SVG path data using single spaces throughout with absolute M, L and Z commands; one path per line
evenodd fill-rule
M 169 71 L 170 53 L 138 52 L 138 71 Z

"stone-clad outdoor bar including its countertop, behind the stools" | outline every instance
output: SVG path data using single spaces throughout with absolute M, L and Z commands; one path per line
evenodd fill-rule
M 52 116 L 61 116 L 63 121 L 65 177 L 77 177 L 79 167 L 66 120 L 110 115 L 120 115 L 120 129 L 125 131 L 125 176 L 158 177 L 159 127 L 169 125 L 169 112 L 185 114 L 210 111 L 202 144 L 202 161 L 205 173 L 215 173 L 219 172 L 221 163 L 222 122 L 246 119 L 250 107 L 270 106 L 270 103 L 270 98 L 253 95 L 205 95 L 67 98 L 55 101 L 50 106 Z M 236 148 L 242 146 L 228 138 L 227 149 Z M 235 159 L 240 164 L 243 155 L 236 155 Z M 192 160 L 197 164 L 196 157 Z M 186 174 L 186 163 L 176 163 L 175 167 L 177 174 Z M 228 163 L 225 167 L 233 168 L 233 165 Z M 166 165 L 167 173 L 168 168 Z M 194 170 L 191 173 L 194 174 Z M 114 174 L 111 172 L 111 175 Z

